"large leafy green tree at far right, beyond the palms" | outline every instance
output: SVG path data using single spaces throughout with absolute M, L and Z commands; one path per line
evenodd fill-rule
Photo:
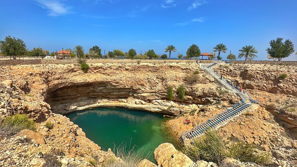
M 271 40 L 269 42 L 271 48 L 267 48 L 267 53 L 273 57 L 277 58 L 278 61 L 282 61 L 282 58 L 290 56 L 294 53 L 294 44 L 289 39 L 282 42 L 283 38 L 277 38 L 277 40 Z

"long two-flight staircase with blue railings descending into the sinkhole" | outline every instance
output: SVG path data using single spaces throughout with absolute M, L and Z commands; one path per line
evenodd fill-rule
M 214 79 L 216 79 L 220 83 L 220 85 L 237 94 L 241 98 L 241 101 L 233 105 L 232 107 L 227 108 L 227 110 L 221 112 L 220 114 L 217 114 L 211 119 L 208 119 L 206 122 L 203 122 L 202 124 L 194 127 L 193 132 L 192 130 L 183 132 L 181 135 L 182 144 L 191 144 L 193 138 L 202 136 L 204 134 L 204 130 L 208 128 L 218 128 L 222 125 L 225 125 L 230 121 L 230 119 L 233 119 L 235 116 L 238 116 L 239 114 L 245 112 L 246 109 L 252 105 L 252 103 L 259 103 L 258 100 L 253 100 L 246 90 L 244 91 L 244 93 L 242 93 L 241 91 L 239 91 L 238 87 L 231 83 L 227 78 L 222 77 L 221 79 L 217 71 L 211 70 L 210 67 L 216 64 L 217 63 L 212 63 L 209 66 L 201 64 L 201 68 L 204 70 L 204 73 L 208 73 L 209 75 L 214 77 Z

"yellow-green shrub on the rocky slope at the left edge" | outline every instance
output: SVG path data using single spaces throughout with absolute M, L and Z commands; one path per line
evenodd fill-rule
M 26 114 L 7 116 L 0 127 L 1 136 L 12 136 L 23 129 L 36 130 L 36 123 L 29 120 Z

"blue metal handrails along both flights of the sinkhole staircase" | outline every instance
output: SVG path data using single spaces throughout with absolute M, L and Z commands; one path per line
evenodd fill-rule
M 233 91 L 233 89 L 235 89 L 236 91 L 238 91 L 238 96 L 240 96 L 241 101 L 235 105 L 233 105 L 232 107 L 230 107 L 229 109 L 227 108 L 225 111 L 213 116 L 212 118 L 208 119 L 206 122 L 201 123 L 200 125 L 194 127 L 193 129 L 196 130 L 200 127 L 202 127 L 203 125 L 208 124 L 210 121 L 216 119 L 219 116 L 222 116 L 223 114 L 225 114 L 226 112 L 236 108 L 238 105 L 243 104 L 246 99 L 244 97 L 244 94 L 242 94 L 242 92 L 238 89 L 238 86 L 234 85 L 232 82 L 230 82 L 227 78 L 223 77 L 222 75 L 222 79 L 219 77 L 219 72 L 217 72 L 216 70 L 212 70 L 210 67 L 206 67 L 204 64 L 201 64 L 201 67 L 203 68 L 204 71 L 210 73 L 214 78 L 218 79 L 219 82 L 222 83 L 222 85 L 227 88 L 227 89 L 231 89 Z M 231 85 L 232 84 L 232 85 Z M 236 111 L 241 110 L 242 108 L 244 108 L 247 105 L 251 105 L 252 103 L 259 103 L 259 100 L 253 100 L 252 97 L 250 96 L 250 94 L 245 90 L 245 94 L 247 95 L 248 99 L 250 100 L 249 103 L 244 103 L 243 106 L 241 106 L 240 108 L 237 108 L 235 111 L 232 111 L 231 113 L 227 114 L 226 116 L 223 116 L 221 119 L 213 122 L 211 125 L 209 125 L 208 127 L 215 127 L 213 126 L 214 124 L 217 125 L 217 123 L 219 123 L 222 119 L 228 118 L 228 116 L 235 114 Z M 191 139 L 194 137 L 195 134 L 203 132 L 207 127 L 204 127 L 203 129 L 200 129 L 199 131 L 195 132 L 194 134 L 191 133 Z M 186 139 L 186 134 L 190 133 L 192 130 L 188 130 L 185 132 L 181 133 L 181 139 L 184 140 Z

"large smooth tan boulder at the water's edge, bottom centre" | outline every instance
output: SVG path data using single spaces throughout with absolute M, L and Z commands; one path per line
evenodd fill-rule
M 161 167 L 189 167 L 194 163 L 170 143 L 160 144 L 154 151 L 154 157 Z

